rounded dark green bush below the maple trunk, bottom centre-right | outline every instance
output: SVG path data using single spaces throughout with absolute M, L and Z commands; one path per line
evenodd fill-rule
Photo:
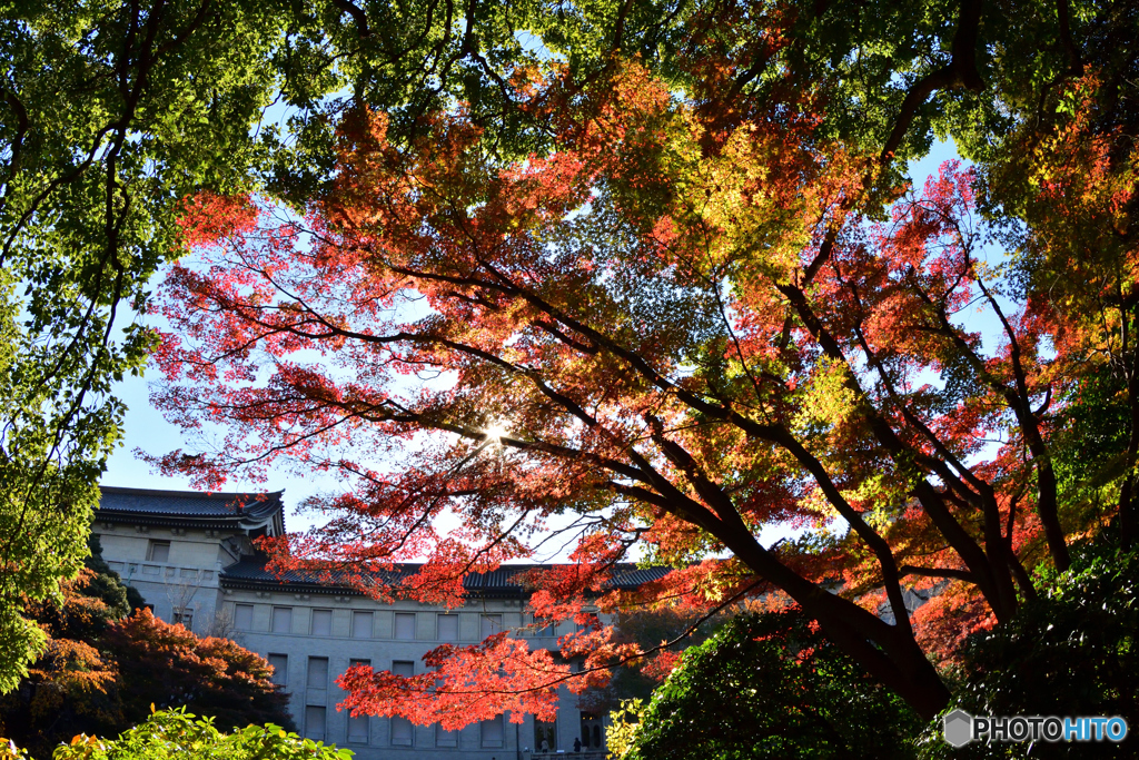
M 907 758 L 919 726 L 802 614 L 748 613 L 685 652 L 620 757 Z

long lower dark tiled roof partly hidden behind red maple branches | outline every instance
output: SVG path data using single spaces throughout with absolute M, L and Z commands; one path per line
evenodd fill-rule
M 289 571 L 281 578 L 265 569 L 268 559 L 264 556 L 246 556 L 222 571 L 222 588 L 232 589 L 256 589 L 274 590 L 305 594 L 339 594 L 358 595 L 362 594 L 351 587 L 347 582 L 337 582 L 336 574 L 329 581 L 322 580 L 316 573 L 301 571 Z M 525 565 L 502 565 L 498 570 L 489 573 L 469 573 L 462 580 L 462 588 L 470 596 L 498 597 L 498 598 L 523 598 L 528 596 L 528 591 L 521 582 L 515 582 L 514 577 L 530 570 L 551 570 L 558 565 L 551 564 L 525 564 Z M 398 583 L 403 578 L 419 572 L 423 567 L 419 563 L 401 563 L 391 571 L 382 574 L 384 582 Z M 642 583 L 664 578 L 670 572 L 670 567 L 639 569 L 637 565 L 622 563 L 613 569 L 613 580 L 609 588 L 622 590 L 633 590 Z

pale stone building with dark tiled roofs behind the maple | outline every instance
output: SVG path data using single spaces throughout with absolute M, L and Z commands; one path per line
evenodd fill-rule
M 424 668 L 423 655 L 440 644 L 475 644 L 532 626 L 526 591 L 511 577 L 534 565 L 468 575 L 467 600 L 458 608 L 383 604 L 300 573 L 279 579 L 265 570 L 253 539 L 284 533 L 281 496 L 104 488 L 93 532 L 110 567 L 158 618 L 199 635 L 228 636 L 264 656 L 289 693 L 300 730 L 350 747 L 360 760 L 555 758 L 573 755 L 575 738 L 583 742 L 577 757 L 604 757 L 604 718 L 580 711 L 564 689 L 552 724 L 526 716 L 519 725 L 499 716 L 444 732 L 336 710 L 344 693 L 334 680 L 352 664 L 413 675 Z M 622 567 L 616 583 L 636 587 L 662 572 Z M 522 635 L 532 639 L 531 647 L 556 651 L 557 637 L 571 630 L 562 624 Z

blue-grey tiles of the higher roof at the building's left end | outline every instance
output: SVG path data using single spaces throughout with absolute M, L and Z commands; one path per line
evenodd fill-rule
M 113 485 L 100 490 L 99 517 L 122 514 L 194 520 L 261 520 L 281 509 L 284 493 L 203 493 Z

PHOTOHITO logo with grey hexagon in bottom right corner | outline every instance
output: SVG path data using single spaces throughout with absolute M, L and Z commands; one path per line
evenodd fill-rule
M 1122 742 L 1128 721 L 1112 717 L 1058 718 L 1056 716 L 970 716 L 953 710 L 944 718 L 945 742 L 965 746 L 988 742 Z

